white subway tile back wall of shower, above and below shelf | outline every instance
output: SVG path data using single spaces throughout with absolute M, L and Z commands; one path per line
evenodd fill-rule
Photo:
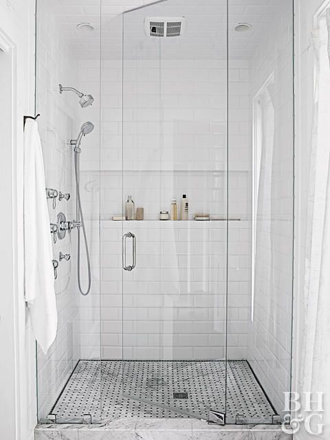
M 226 223 L 159 221 L 159 211 L 169 211 L 173 198 L 179 205 L 185 193 L 190 220 L 196 212 L 225 217 L 225 62 L 125 60 L 123 137 L 122 63 L 102 65 L 102 147 L 99 156 L 93 137 L 84 140 L 81 177 L 85 216 L 96 230 L 100 192 L 102 357 L 120 359 L 123 346 L 129 359 L 225 358 Z M 86 66 L 80 63 L 80 88 L 94 93 L 98 63 Z M 230 75 L 239 91 L 230 100 L 237 117 L 230 125 L 228 208 L 239 220 L 229 234 L 228 355 L 243 359 L 251 266 L 248 61 L 235 61 Z M 89 111 L 97 122 L 98 111 Z M 144 221 L 125 222 L 123 231 L 111 219 L 129 194 L 144 208 Z M 126 229 L 137 236 L 137 268 L 124 272 L 122 286 Z

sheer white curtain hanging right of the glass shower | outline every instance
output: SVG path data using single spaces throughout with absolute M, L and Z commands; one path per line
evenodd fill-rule
M 305 259 L 305 319 L 300 382 L 304 392 L 325 392 L 320 438 L 330 438 L 330 14 L 315 32 L 318 60 L 311 144 L 307 243 Z M 315 419 L 312 428 L 316 429 Z

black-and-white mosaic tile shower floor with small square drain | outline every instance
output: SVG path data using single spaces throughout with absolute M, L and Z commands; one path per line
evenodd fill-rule
M 225 368 L 225 361 L 214 360 L 80 360 L 50 414 L 56 423 L 122 417 L 208 420 L 209 410 L 224 412 Z M 250 364 L 228 361 L 226 423 L 272 423 L 274 415 Z

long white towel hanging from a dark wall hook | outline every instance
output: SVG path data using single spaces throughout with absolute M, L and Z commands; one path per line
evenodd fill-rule
M 57 310 L 43 151 L 32 119 L 24 129 L 24 253 L 25 301 L 34 336 L 47 353 L 56 337 Z

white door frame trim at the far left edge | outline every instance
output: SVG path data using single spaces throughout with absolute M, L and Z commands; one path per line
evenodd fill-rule
M 0 197 L 5 208 L 2 219 L 0 246 L 1 259 L 1 295 L 0 310 L 0 345 L 5 362 L 0 364 L 1 417 L 5 420 L 7 438 L 17 437 L 18 386 L 18 276 L 17 276 L 17 175 L 16 135 L 14 114 L 16 113 L 16 47 L 0 29 L 0 94 L 3 106 L 0 111 L 1 126 L 1 162 L 0 162 Z M 2 77 L 2 78 L 1 78 Z M 11 227 L 10 227 L 11 226 Z

